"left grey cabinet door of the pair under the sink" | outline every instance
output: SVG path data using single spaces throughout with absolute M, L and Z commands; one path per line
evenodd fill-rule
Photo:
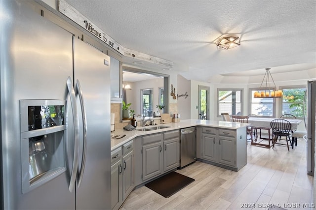
M 143 152 L 143 180 L 162 173 L 163 158 L 161 141 L 142 147 Z

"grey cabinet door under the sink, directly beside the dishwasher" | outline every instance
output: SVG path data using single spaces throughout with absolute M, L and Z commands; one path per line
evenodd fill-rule
M 179 166 L 179 138 L 163 142 L 163 171 Z

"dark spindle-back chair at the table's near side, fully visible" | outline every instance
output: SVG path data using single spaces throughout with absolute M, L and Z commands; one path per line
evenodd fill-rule
M 290 141 L 290 145 L 293 149 L 293 143 L 292 143 L 291 138 L 290 138 L 292 135 L 291 123 L 285 119 L 276 119 L 276 120 L 272 120 L 270 122 L 270 126 L 272 128 L 272 136 L 274 136 L 274 138 L 272 140 L 272 149 L 274 149 L 275 144 L 279 144 L 279 145 L 286 145 L 287 150 L 290 151 L 290 149 L 288 147 L 288 141 Z M 277 138 L 282 137 L 282 136 L 285 137 L 286 144 L 283 144 L 281 142 L 277 142 Z M 281 138 L 280 138 L 280 140 L 281 140 Z

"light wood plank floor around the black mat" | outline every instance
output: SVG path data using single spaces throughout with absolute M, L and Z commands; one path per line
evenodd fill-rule
M 267 204 L 308 209 L 314 205 L 314 179 L 307 175 L 303 139 L 290 151 L 286 146 L 268 149 L 248 144 L 247 164 L 238 172 L 199 161 L 176 172 L 195 181 L 169 198 L 142 186 L 120 210 L 268 209 Z

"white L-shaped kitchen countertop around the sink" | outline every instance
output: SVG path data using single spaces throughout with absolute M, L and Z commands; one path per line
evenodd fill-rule
M 143 135 L 147 135 L 147 134 L 160 133 L 160 132 L 181 129 L 181 128 L 186 128 L 186 127 L 191 127 L 191 126 L 197 126 L 197 125 L 209 126 L 209 127 L 218 127 L 218 128 L 227 128 L 227 129 L 238 129 L 241 127 L 246 127 L 250 124 L 249 123 L 239 123 L 239 122 L 229 122 L 229 121 L 191 119 L 191 120 L 181 120 L 180 122 L 170 122 L 170 123 L 159 124 L 159 125 L 166 125 L 166 126 L 170 126 L 170 127 L 158 129 L 158 130 L 151 130 L 151 131 L 140 131 L 140 130 L 127 131 L 127 130 L 124 130 L 123 128 L 116 129 L 114 132 L 111 133 L 111 136 L 117 136 L 117 135 L 118 136 L 126 135 L 126 136 L 124 136 L 123 138 L 120 138 L 120 139 L 111 138 L 111 150 L 115 150 L 119 146 L 127 143 L 128 141 L 132 140 L 133 138 L 135 138 L 137 136 L 143 136 Z M 157 125 L 150 125 L 150 126 L 145 126 L 145 127 L 150 128 L 153 126 L 157 126 Z M 143 128 L 143 127 L 139 127 L 139 126 L 136 127 L 136 129 L 139 129 L 139 128 Z

